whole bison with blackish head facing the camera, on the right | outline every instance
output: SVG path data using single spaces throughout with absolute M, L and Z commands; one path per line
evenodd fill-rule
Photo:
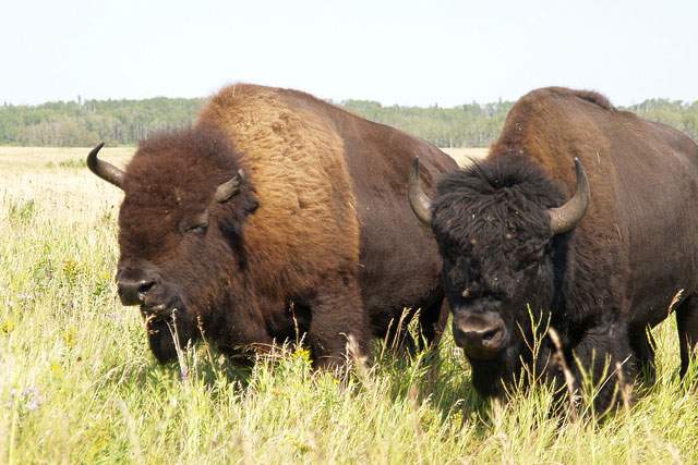
M 438 243 L 454 338 L 481 394 L 501 395 L 525 366 L 562 381 L 550 335 L 533 360 L 527 305 L 558 332 L 575 382 L 579 366 L 597 381 L 604 365 L 615 375 L 595 397 L 604 409 L 614 380 L 642 368 L 652 379 L 650 330 L 683 290 L 685 374 L 698 342 L 698 146 L 689 137 L 599 94 L 544 88 L 522 97 L 489 157 L 445 176 L 432 200 L 417 170 L 410 201 Z

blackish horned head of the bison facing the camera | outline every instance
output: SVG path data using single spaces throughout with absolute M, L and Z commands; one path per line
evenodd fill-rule
M 531 315 L 546 321 L 553 308 L 556 267 L 564 266 L 566 232 L 583 217 L 589 185 L 575 160 L 577 193 L 565 205 L 558 186 L 522 156 L 492 157 L 450 173 L 431 200 L 419 187 L 416 161 L 409 197 L 432 227 L 443 258 L 453 333 L 484 395 L 532 362 Z

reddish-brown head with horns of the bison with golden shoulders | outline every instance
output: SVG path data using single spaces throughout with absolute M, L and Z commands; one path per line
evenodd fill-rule
M 242 295 L 242 225 L 256 208 L 238 155 L 213 129 L 163 134 L 140 144 L 125 172 L 99 160 L 88 168 L 124 192 L 117 272 L 123 305 L 140 306 L 160 362 L 195 340 L 231 298 Z

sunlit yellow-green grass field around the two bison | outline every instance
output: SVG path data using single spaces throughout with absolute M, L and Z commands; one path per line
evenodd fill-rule
M 546 389 L 482 405 L 449 336 L 436 376 L 380 347 L 346 382 L 303 351 L 240 369 L 201 344 L 159 366 L 116 296 L 121 193 L 86 152 L 0 147 L 0 463 L 698 463 L 673 319 L 657 384 L 603 423 L 547 415 Z

